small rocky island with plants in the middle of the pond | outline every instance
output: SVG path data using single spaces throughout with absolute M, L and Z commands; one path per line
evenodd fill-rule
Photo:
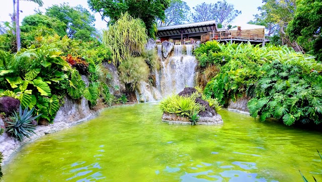
M 216 112 L 220 106 L 216 99 L 207 97 L 196 88 L 187 87 L 160 102 L 163 122 L 177 125 L 221 125 Z

